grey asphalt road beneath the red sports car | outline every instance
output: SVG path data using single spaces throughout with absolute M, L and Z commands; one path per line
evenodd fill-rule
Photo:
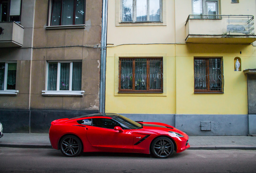
M 0 148 L 1 173 L 256 173 L 256 151 L 187 150 L 168 159 L 126 153 L 64 157 L 54 149 Z

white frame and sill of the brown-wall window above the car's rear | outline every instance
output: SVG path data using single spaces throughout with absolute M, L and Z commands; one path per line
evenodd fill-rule
M 57 87 L 56 91 L 48 91 L 48 66 L 49 62 L 58 62 L 57 68 Z M 72 91 L 72 72 L 73 72 L 73 62 L 81 62 L 82 61 L 48 61 L 46 65 L 46 76 L 45 76 L 45 90 L 42 91 L 43 96 L 52 96 L 52 95 L 60 95 L 60 96 L 83 96 L 85 91 Z M 70 63 L 70 71 L 69 71 L 69 90 L 60 90 L 60 64 L 61 63 Z

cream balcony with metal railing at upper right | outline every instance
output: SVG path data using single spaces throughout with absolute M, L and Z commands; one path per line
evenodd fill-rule
M 256 41 L 253 19 L 246 15 L 189 15 L 186 43 L 250 44 Z

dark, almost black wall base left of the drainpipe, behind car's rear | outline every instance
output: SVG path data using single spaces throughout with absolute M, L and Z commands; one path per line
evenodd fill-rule
M 56 119 L 74 118 L 99 111 L 43 111 L 0 110 L 4 133 L 49 133 L 51 122 Z

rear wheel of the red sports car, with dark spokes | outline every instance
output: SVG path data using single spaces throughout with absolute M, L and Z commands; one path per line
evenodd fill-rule
M 78 156 L 82 147 L 80 139 L 74 135 L 67 135 L 60 141 L 60 151 L 68 157 Z

